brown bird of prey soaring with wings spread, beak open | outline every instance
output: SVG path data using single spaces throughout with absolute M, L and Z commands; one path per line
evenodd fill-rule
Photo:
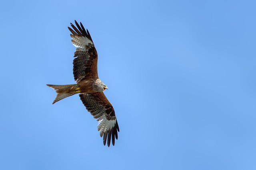
M 68 27 L 71 32 L 72 44 L 76 47 L 73 60 L 73 75 L 76 84 L 47 86 L 56 90 L 57 96 L 53 103 L 64 98 L 79 94 L 80 100 L 98 121 L 98 131 L 100 137 L 103 137 L 103 144 L 110 147 L 110 142 L 115 145 L 115 139 L 118 139 L 119 126 L 116 120 L 116 114 L 112 104 L 108 101 L 104 92 L 108 87 L 98 77 L 98 54 L 92 37 L 85 29 L 82 23 L 80 25 L 75 20 L 75 25 L 70 23 Z M 112 140 L 111 140 L 112 139 Z

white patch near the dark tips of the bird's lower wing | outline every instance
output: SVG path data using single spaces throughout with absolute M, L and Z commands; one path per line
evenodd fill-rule
M 113 129 L 115 124 L 116 124 L 116 119 L 115 120 L 108 120 L 106 118 L 105 114 L 100 116 L 98 121 L 99 121 L 99 123 L 98 123 L 98 131 L 100 131 L 100 137 L 102 137 L 102 135 L 106 131 L 109 131 L 110 129 Z

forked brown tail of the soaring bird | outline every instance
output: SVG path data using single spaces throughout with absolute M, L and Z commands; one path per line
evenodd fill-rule
M 68 96 L 72 96 L 74 94 L 77 94 L 75 91 L 76 88 L 78 88 L 77 84 L 67 84 L 67 85 L 52 85 L 52 84 L 46 84 L 46 86 L 49 86 L 56 90 L 57 96 L 54 99 L 53 103 L 56 103 Z

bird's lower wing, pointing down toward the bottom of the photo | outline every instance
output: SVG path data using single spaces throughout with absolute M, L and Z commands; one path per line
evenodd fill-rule
M 119 132 L 119 127 L 114 108 L 104 93 L 82 93 L 79 96 L 86 109 L 99 121 L 98 131 L 100 131 L 100 137 L 103 136 L 103 144 L 106 145 L 106 141 L 108 140 L 109 147 L 112 138 L 112 145 L 114 146 L 115 138 L 118 139 L 117 131 Z

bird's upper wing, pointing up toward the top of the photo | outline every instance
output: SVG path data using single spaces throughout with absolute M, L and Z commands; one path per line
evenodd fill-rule
M 88 31 L 88 29 L 84 29 L 84 26 L 80 22 L 80 25 L 75 20 L 75 25 L 72 23 L 70 28 L 70 34 L 72 40 L 72 44 L 77 47 L 76 52 L 74 53 L 73 60 L 73 74 L 76 82 L 79 82 L 86 78 L 97 79 L 98 78 L 98 70 L 97 70 L 97 62 L 98 55 L 97 51 L 94 47 L 94 43 L 92 41 L 92 37 Z

